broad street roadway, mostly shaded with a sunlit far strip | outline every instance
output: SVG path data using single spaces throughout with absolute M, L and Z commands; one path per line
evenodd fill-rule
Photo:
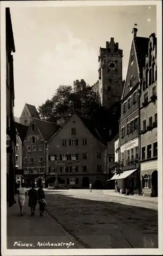
M 158 248 L 157 201 L 112 194 L 45 190 L 46 210 L 84 248 Z

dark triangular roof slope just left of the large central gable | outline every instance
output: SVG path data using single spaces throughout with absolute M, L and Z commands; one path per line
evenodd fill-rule
M 48 141 L 62 127 L 62 125 L 60 125 L 60 124 L 42 121 L 37 118 L 33 118 L 33 121 L 36 123 L 36 125 L 45 141 Z

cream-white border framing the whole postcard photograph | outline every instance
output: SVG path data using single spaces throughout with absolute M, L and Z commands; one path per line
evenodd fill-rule
M 7 249 L 6 241 L 6 7 L 157 6 L 157 92 L 158 92 L 158 249 Z M 18 1 L 1 2 L 1 234 L 2 255 L 154 255 L 162 254 L 162 5 L 161 1 Z M 15 53 L 16 54 L 16 53 Z M 150 220 L 149 220 L 150 221 Z

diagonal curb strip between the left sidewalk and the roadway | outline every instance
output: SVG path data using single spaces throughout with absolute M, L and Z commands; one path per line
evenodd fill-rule
M 67 230 L 65 228 L 65 226 L 62 226 L 60 224 L 60 222 L 58 221 L 58 219 L 54 216 L 52 216 L 47 209 L 45 209 L 45 212 L 46 212 L 46 215 L 47 217 L 52 220 L 53 222 L 55 222 L 56 226 L 58 226 L 58 228 L 60 228 L 60 230 L 64 233 L 64 235 L 66 237 L 69 238 L 69 240 L 74 243 L 75 242 L 75 245 L 77 246 L 77 249 L 85 249 L 86 246 L 87 248 L 90 248 L 88 247 L 88 245 L 86 245 L 83 241 L 80 241 L 77 237 L 75 237 L 69 230 Z

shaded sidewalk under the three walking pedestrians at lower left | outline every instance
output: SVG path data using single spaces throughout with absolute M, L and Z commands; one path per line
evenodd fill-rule
M 39 205 L 35 216 L 31 217 L 28 197 L 20 217 L 17 196 L 16 204 L 7 209 L 7 248 L 8 249 L 65 249 L 83 248 L 45 211 L 39 216 Z

